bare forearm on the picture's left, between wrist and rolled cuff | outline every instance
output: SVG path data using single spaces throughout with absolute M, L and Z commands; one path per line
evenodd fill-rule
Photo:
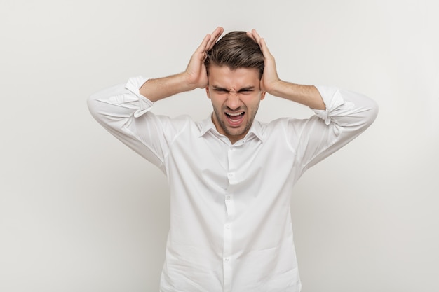
M 151 102 L 156 102 L 180 92 L 194 90 L 195 88 L 196 85 L 191 85 L 187 81 L 187 76 L 184 73 L 180 73 L 163 78 L 148 79 L 140 87 L 139 91 L 141 95 L 147 97 Z

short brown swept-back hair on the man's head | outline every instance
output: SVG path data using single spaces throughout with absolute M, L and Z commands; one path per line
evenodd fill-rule
M 227 66 L 230 69 L 259 69 L 259 79 L 264 72 L 264 55 L 259 45 L 246 32 L 229 32 L 225 34 L 208 51 L 205 68 L 209 74 L 209 65 Z

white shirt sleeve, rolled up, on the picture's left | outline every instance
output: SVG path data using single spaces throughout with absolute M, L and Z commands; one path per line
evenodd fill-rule
M 139 92 L 145 81 L 137 76 L 96 92 L 88 98 L 88 109 L 123 144 L 165 172 L 163 160 L 179 126 L 169 117 L 151 113 L 154 103 Z

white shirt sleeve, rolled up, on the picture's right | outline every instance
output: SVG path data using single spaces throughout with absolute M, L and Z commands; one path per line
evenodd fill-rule
M 352 141 L 374 122 L 377 103 L 365 95 L 334 87 L 316 86 L 325 110 L 313 110 L 307 120 L 290 120 L 292 148 L 303 171 Z

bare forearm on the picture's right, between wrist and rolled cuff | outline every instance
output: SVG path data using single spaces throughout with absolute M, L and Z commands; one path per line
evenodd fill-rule
M 313 85 L 298 85 L 286 81 L 277 81 L 269 90 L 270 95 L 285 98 L 292 102 L 304 104 L 311 109 L 326 109 L 320 93 Z

